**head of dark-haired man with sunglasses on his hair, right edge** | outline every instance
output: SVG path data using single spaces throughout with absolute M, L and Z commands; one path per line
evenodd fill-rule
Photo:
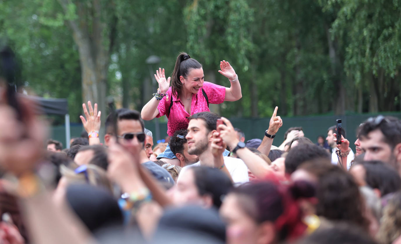
M 401 120 L 382 116 L 367 119 L 359 131 L 364 160 L 381 160 L 401 175 Z

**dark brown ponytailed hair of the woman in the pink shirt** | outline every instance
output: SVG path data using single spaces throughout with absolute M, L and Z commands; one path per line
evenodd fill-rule
M 186 78 L 191 69 L 200 68 L 202 68 L 202 64 L 191 58 L 188 54 L 186 54 L 186 52 L 181 52 L 177 57 L 174 71 L 171 75 L 172 94 L 178 96 L 181 92 L 182 83 L 180 81 L 180 76 Z

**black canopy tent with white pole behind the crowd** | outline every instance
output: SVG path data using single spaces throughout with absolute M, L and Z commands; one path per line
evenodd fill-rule
M 65 98 L 42 98 L 38 96 L 28 96 L 34 101 L 36 110 L 44 114 L 59 114 L 65 116 L 65 145 L 70 147 L 71 129 L 70 115 L 68 114 L 68 102 Z

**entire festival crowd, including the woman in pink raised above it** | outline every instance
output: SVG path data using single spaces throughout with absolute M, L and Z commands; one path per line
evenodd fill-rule
M 275 138 L 285 123 L 275 107 L 263 140 L 246 140 L 209 110 L 242 96 L 229 62 L 220 68 L 229 88 L 182 53 L 172 78 L 156 71 L 141 112 L 101 121 L 83 104 L 85 133 L 68 149 L 43 146 L 46 123 L 28 100 L 20 118 L 3 98 L 1 243 L 401 243 L 401 120 L 361 121 L 354 153 L 331 125 L 327 143 L 302 127 Z M 170 140 L 154 145 L 144 120 L 163 115 Z

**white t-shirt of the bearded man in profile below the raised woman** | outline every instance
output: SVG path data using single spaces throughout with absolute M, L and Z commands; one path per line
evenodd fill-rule
M 231 178 L 233 179 L 234 185 L 240 185 L 246 182 L 249 182 L 248 178 L 248 167 L 245 165 L 244 161 L 239 158 L 231 158 L 231 157 L 223 157 L 224 165 L 227 168 L 228 172 L 230 172 Z M 201 162 L 197 162 L 191 165 L 187 165 L 182 168 L 180 175 L 184 170 L 187 170 L 190 167 L 201 166 Z M 180 175 L 178 176 L 177 182 L 180 180 Z

